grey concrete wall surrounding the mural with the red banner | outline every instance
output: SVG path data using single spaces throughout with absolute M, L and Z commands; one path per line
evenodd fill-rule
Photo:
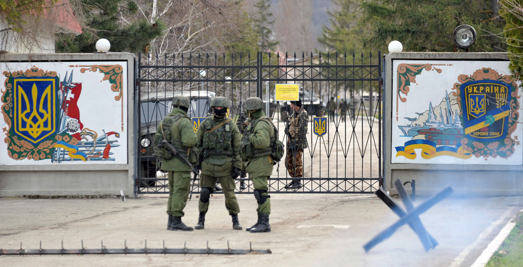
M 134 192 L 134 57 L 132 54 L 6 54 L 6 62 L 127 60 L 128 80 L 123 95 L 128 100 L 127 164 L 0 165 L 0 196 L 120 195 Z M 2 86 L 1 88 L 4 88 Z M 5 90 L 5 89 L 4 89 Z M 124 114 L 126 115 L 126 114 Z M 125 117 L 124 117 L 125 118 Z

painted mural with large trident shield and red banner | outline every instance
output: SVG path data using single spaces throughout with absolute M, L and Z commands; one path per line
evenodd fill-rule
M 126 164 L 127 62 L 3 63 L 0 164 Z

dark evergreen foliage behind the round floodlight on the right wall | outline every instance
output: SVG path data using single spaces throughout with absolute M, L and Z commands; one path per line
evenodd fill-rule
M 470 47 L 471 52 L 501 51 L 504 45 L 492 33 L 501 32 L 505 21 L 499 19 L 495 13 L 494 2 L 496 1 L 366 0 L 361 4 L 360 23 L 368 25 L 371 32 L 368 37 L 363 38 L 363 45 L 385 51 L 384 48 L 390 41 L 399 40 L 404 51 L 452 52 L 454 28 L 468 24 L 477 32 L 477 40 Z

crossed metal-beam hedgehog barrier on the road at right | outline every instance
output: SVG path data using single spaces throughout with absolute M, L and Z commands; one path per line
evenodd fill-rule
M 391 208 L 392 211 L 396 213 L 396 215 L 400 216 L 400 220 L 396 221 L 391 226 L 379 233 L 377 236 L 372 238 L 369 242 L 367 242 L 367 244 L 363 246 L 363 249 L 365 249 L 365 252 L 368 252 L 374 246 L 378 245 L 381 241 L 391 237 L 392 234 L 394 234 L 394 232 L 396 232 L 396 230 L 404 224 L 408 224 L 414 230 L 414 232 L 416 232 L 419 239 L 422 241 L 423 247 L 426 251 L 428 251 L 431 248 L 435 248 L 438 245 L 438 242 L 427 232 L 421 220 L 419 220 L 419 215 L 426 212 L 435 204 L 448 197 L 454 190 L 447 185 L 444 189 L 437 192 L 434 196 L 430 197 L 425 202 L 418 205 L 418 207 L 414 208 L 414 204 L 412 203 L 411 198 L 408 196 L 405 188 L 403 187 L 403 183 L 401 182 L 401 180 L 397 179 L 394 182 L 394 185 L 396 186 L 396 189 L 398 190 L 398 193 L 407 211 L 405 212 L 403 209 L 401 209 L 399 205 L 397 205 L 394 202 L 394 200 L 392 200 L 392 198 L 389 197 L 389 195 L 386 195 L 383 189 L 380 188 L 376 192 L 376 195 L 383 202 L 385 202 L 385 204 L 388 205 L 389 208 Z

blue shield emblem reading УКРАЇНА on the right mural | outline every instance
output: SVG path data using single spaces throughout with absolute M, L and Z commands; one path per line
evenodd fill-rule
M 461 86 L 463 128 L 474 141 L 496 141 L 507 135 L 511 86 L 494 80 Z

